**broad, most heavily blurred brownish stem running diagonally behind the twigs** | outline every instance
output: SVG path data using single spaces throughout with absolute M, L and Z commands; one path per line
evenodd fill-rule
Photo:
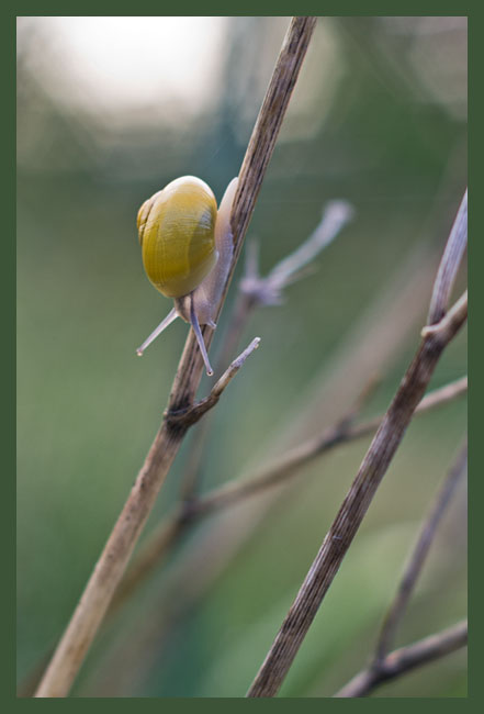
M 444 192 L 439 191 L 439 196 L 452 192 L 451 188 L 447 186 Z M 423 238 L 427 236 L 429 227 L 435 222 L 437 205 L 441 207 L 441 203 L 436 202 L 432 208 L 431 215 L 434 217 L 432 220 L 428 217 L 425 230 L 423 228 L 420 232 Z M 435 250 L 429 252 L 419 247 L 413 252 L 405 266 L 398 268 L 391 278 L 393 289 L 389 290 L 387 288 L 384 291 L 384 297 L 379 298 L 369 312 L 360 319 L 356 327 L 351 328 L 350 336 L 345 341 L 342 352 L 339 352 L 337 364 L 329 370 L 329 375 L 326 371 L 320 372 L 312 384 L 311 392 L 313 393 L 306 392 L 299 409 L 291 410 L 291 426 L 293 428 L 285 429 L 288 433 L 284 434 L 283 442 L 295 442 L 297 436 L 301 436 L 300 416 L 311 414 L 312 419 L 305 420 L 311 426 L 314 426 L 315 421 L 325 422 L 327 420 L 328 400 L 322 393 L 322 382 L 326 384 L 326 392 L 327 390 L 330 392 L 329 401 L 333 411 L 335 411 L 336 404 L 336 412 L 339 413 L 345 402 L 348 403 L 356 398 L 354 390 L 358 384 L 359 391 L 361 390 L 361 382 L 369 372 L 374 372 L 375 369 L 379 372 L 384 371 L 391 358 L 398 354 L 408 336 L 412 333 L 415 335 L 419 315 L 421 320 L 424 301 L 428 300 L 431 291 L 436 264 L 438 264 L 438 256 Z M 350 390 L 348 390 L 349 381 L 351 381 Z M 462 393 L 461 390 L 465 391 L 465 389 L 466 379 L 463 378 L 430 392 L 423 402 L 430 405 L 431 400 L 437 406 L 446 392 L 451 399 L 451 393 L 454 390 L 454 395 L 458 395 Z M 314 411 L 316 400 L 319 403 L 317 412 Z M 201 424 L 203 426 L 204 421 Z M 378 424 L 374 425 L 374 429 L 376 427 Z M 306 438 L 307 432 L 311 431 L 306 429 Z M 272 438 L 272 449 L 269 448 L 269 450 L 277 451 L 278 444 L 281 446 L 279 433 L 275 444 Z M 255 459 L 256 465 L 259 458 Z M 258 473 L 259 468 L 256 466 L 255 470 L 251 469 L 251 473 Z M 241 483 L 241 481 L 240 479 L 239 482 Z M 262 490 L 259 492 L 260 498 L 254 499 L 250 504 L 247 504 L 247 500 L 240 499 L 239 506 L 234 509 L 233 514 L 227 514 L 224 510 L 218 511 L 221 517 L 211 522 L 210 527 L 200 533 L 168 573 L 160 598 L 157 598 L 156 603 L 150 607 L 148 623 L 143 628 L 133 628 L 124 639 L 120 638 L 111 654 L 108 654 L 102 666 L 102 674 L 98 673 L 94 677 L 98 682 L 97 688 L 94 685 L 94 691 L 101 692 L 99 695 L 113 695 L 113 691 L 116 691 L 116 682 L 120 681 L 120 672 L 122 672 L 121 677 L 124 681 L 136 677 L 138 659 L 146 656 L 151 649 L 159 651 L 160 642 L 166 642 L 169 636 L 167 633 L 171 632 L 176 623 L 182 620 L 184 614 L 206 594 L 214 580 L 225 570 L 227 564 L 232 562 L 246 539 L 254 536 L 255 528 L 263 520 L 268 509 L 278 502 L 280 493 L 280 489 L 272 489 L 268 492 L 270 498 L 267 498 Z M 161 528 L 165 529 L 165 526 L 167 528 L 165 535 L 170 539 L 173 535 L 172 528 L 175 529 L 176 526 L 173 522 L 165 523 L 164 526 L 160 525 L 160 532 Z M 173 537 L 177 537 L 176 534 Z M 166 548 L 168 549 L 171 545 L 168 544 Z M 162 544 L 161 550 L 162 557 L 165 554 Z M 201 562 L 204 564 L 203 568 L 200 568 Z M 131 574 L 135 576 L 133 571 Z M 131 574 L 127 577 L 131 578 Z M 120 649 L 123 650 L 126 647 L 130 647 L 128 659 L 126 656 L 120 655 Z M 155 657 L 153 652 L 151 656 Z M 111 678 L 109 672 L 111 672 Z

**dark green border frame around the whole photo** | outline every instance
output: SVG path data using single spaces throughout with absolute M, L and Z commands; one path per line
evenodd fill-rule
M 325 15 L 466 15 L 469 16 L 469 41 L 470 41 L 470 82 L 475 82 L 474 94 L 470 96 L 470 114 L 472 115 L 472 124 L 476 126 L 484 125 L 484 118 L 482 111 L 482 98 L 480 97 L 480 87 L 482 86 L 482 70 L 475 69 L 484 66 L 483 57 L 479 55 L 483 53 L 482 51 L 482 31 L 484 30 L 481 15 L 477 9 L 472 9 L 469 3 L 465 5 L 457 2 L 426 2 L 424 5 L 421 2 L 406 2 L 402 3 L 401 11 L 396 11 L 394 7 L 390 7 L 389 2 L 370 2 L 364 3 L 364 11 L 361 2 L 347 2 L 342 4 L 341 2 L 299 2 L 297 7 L 294 7 L 295 3 L 285 3 L 279 1 L 277 3 L 277 12 L 273 10 L 274 3 L 262 3 L 250 2 L 246 0 L 244 3 L 239 3 L 239 8 L 235 8 L 233 3 L 228 5 L 226 2 L 210 2 L 204 3 L 203 9 L 206 15 L 291 15 L 295 11 L 300 14 L 325 14 Z M 475 3 L 477 4 L 477 3 Z M 16 699 L 15 698 L 15 673 L 14 673 L 14 657 L 12 651 L 15 647 L 15 618 L 14 618 L 14 568 L 15 568 L 15 553 L 12 544 L 14 543 L 14 503 L 15 503 L 15 427 L 14 427 L 14 417 L 15 414 L 15 189 L 14 181 L 12 178 L 15 175 L 15 114 L 10 112 L 10 107 L 15 105 L 15 19 L 21 15 L 69 15 L 69 14 L 93 14 L 93 15 L 109 15 L 109 14 L 133 14 L 134 5 L 128 2 L 117 2 L 113 13 L 113 7 L 108 3 L 99 2 L 83 2 L 82 5 L 78 5 L 78 12 L 74 12 L 74 7 L 71 4 L 67 5 L 65 2 L 21 2 L 15 7 L 5 10 L 2 13 L 1 29 L 2 29 L 2 42 L 1 42 L 1 52 L 3 54 L 1 62 L 1 69 L 3 74 L 2 96 L 4 98 L 3 111 L 1 112 L 1 122 L 2 122 L 2 133 L 7 137 L 7 141 L 3 142 L 3 197 L 4 197 L 4 215 L 7 216 L 7 226 L 3 230 L 2 236 L 2 270 L 3 276 L 1 280 L 1 305 L 2 305 L 2 330 L 5 335 L 3 339 L 3 349 L 1 350 L 1 359 L 3 362 L 3 375 L 4 375 L 4 388 L 3 388 L 3 429 L 2 434 L 5 438 L 5 446 L 3 449 L 4 454 L 4 465 L 3 469 L 4 481 L 3 486 L 7 487 L 8 493 L 7 498 L 3 500 L 3 517 L 1 520 L 2 529 L 3 529 L 3 543 L 4 546 L 4 561 L 12 564 L 11 569 L 7 568 L 4 570 L 2 599 L 4 600 L 3 612 L 4 615 L 4 636 L 2 637 L 3 642 L 3 687 L 2 692 L 4 695 L 2 700 L 4 705 L 11 705 L 15 711 L 30 711 L 30 704 L 27 700 Z M 136 4 L 137 14 L 166 14 L 166 15 L 200 15 L 200 4 L 195 3 L 193 0 L 189 0 L 183 3 L 183 10 L 185 12 L 180 12 L 180 8 L 175 8 L 172 3 L 154 3 L 154 2 L 143 2 Z M 170 12 L 170 10 L 176 10 Z M 191 11 L 190 11 L 191 10 Z M 238 11 L 237 11 L 238 10 Z M 140 12 L 143 11 L 143 12 Z M 10 102 L 12 98 L 12 102 Z M 474 171 L 475 180 L 479 182 L 477 171 L 474 169 L 474 161 L 472 160 L 473 156 L 480 156 L 483 152 L 482 149 L 483 141 L 481 138 L 482 133 L 475 132 L 475 135 L 472 135 L 472 154 L 470 155 L 470 171 Z M 482 179 L 481 179 L 482 180 Z M 471 185 L 471 205 L 473 197 L 473 185 Z M 479 190 L 479 189 L 477 189 Z M 476 196 L 477 196 L 476 190 Z M 477 451 L 479 433 L 482 431 L 481 420 L 483 420 L 482 410 L 479 405 L 479 394 L 480 388 L 482 388 L 482 370 L 479 369 L 480 366 L 484 362 L 484 357 L 482 354 L 482 327 L 483 324 L 482 314 L 480 314 L 480 305 L 484 304 L 482 293 L 483 279 L 479 280 L 477 271 L 483 270 L 484 268 L 484 241 L 480 239 L 480 235 L 476 230 L 472 230 L 473 226 L 476 226 L 479 221 L 479 208 L 482 201 L 476 201 L 475 213 L 474 209 L 471 211 L 471 235 L 476 235 L 476 238 L 471 243 L 470 247 L 470 259 L 469 259 L 469 274 L 470 281 L 472 282 L 472 292 L 471 292 L 471 309 L 470 309 L 470 321 L 471 326 L 474 324 L 474 314 L 475 314 L 475 336 L 473 335 L 471 339 L 471 352 L 469 356 L 470 371 L 471 371 L 471 384 L 472 391 L 469 400 L 470 409 L 470 473 L 471 473 L 471 495 L 470 504 L 471 507 L 471 527 L 472 527 L 472 538 L 470 544 L 470 562 L 474 564 L 473 577 L 472 577 L 472 589 L 470 595 L 470 604 L 472 612 L 472 629 L 470 636 L 470 690 L 468 700 L 470 704 L 475 704 L 479 701 L 483 700 L 481 694 L 481 680 L 482 676 L 473 677 L 473 673 L 477 673 L 479 667 L 479 655 L 477 651 L 479 645 L 477 640 L 481 639 L 477 635 L 472 633 L 479 632 L 479 620 L 482 615 L 482 609 L 479 606 L 479 603 L 483 601 L 483 592 L 480 591 L 481 583 L 477 582 L 475 574 L 482 570 L 482 549 L 480 543 L 482 542 L 482 533 L 479 532 L 479 523 L 482 518 L 472 517 L 479 515 L 477 509 L 480 504 L 484 502 L 482 498 L 482 479 L 477 478 L 477 475 L 483 471 L 483 465 L 480 464 L 482 458 Z M 475 279 L 474 279 L 475 278 Z M 475 298 L 474 298 L 475 291 Z M 481 299 L 480 299 L 481 298 Z M 474 306 L 475 305 L 475 306 Z M 7 334 L 5 334 L 7 332 Z M 475 369 L 474 369 L 475 366 Z M 480 383 L 481 382 L 481 383 Z M 477 413 L 477 410 L 481 413 Z M 481 468 L 480 468 L 481 466 Z M 472 478 L 473 477 L 473 478 Z M 475 527 L 474 527 L 475 526 Z M 10 576 L 10 572 L 12 573 Z M 472 571 L 471 571 L 472 572 Z M 10 582 L 12 585 L 10 585 Z M 7 584 L 9 583 L 9 584 Z M 69 711 L 75 711 L 78 706 L 76 704 L 76 699 L 69 699 Z M 245 703 L 247 701 L 247 703 Z M 249 703 L 249 701 L 251 703 Z M 432 709 L 438 707 L 439 712 L 453 711 L 455 704 L 453 700 L 444 701 L 439 699 L 438 701 L 431 699 L 421 700 L 425 702 L 425 707 Z M 157 703 L 153 704 L 155 707 L 159 707 L 160 703 L 156 700 Z M 196 711 L 203 710 L 206 712 L 226 712 L 229 707 L 230 712 L 234 710 L 241 711 L 240 707 L 244 707 L 244 711 L 247 711 L 245 707 L 250 707 L 250 711 L 280 711 L 280 707 L 286 711 L 293 711 L 294 703 L 291 700 L 266 700 L 264 703 L 259 702 L 258 700 L 237 700 L 237 699 L 169 699 L 164 700 L 164 703 L 168 705 L 170 713 L 171 712 L 185 712 L 188 710 Z M 243 703 L 244 702 L 244 703 Z M 304 703 L 303 703 L 304 702 Z M 161 703 L 161 705 L 164 705 Z M 304 699 L 299 700 L 296 706 L 303 706 L 304 710 L 316 711 L 325 704 L 320 700 Z M 344 704 L 335 704 L 335 706 L 340 707 L 345 706 Z M 49 706 L 41 704 L 41 711 L 44 710 L 44 706 Z M 81 704 L 80 706 L 85 706 Z M 121 702 L 115 702 L 115 704 L 103 703 L 104 707 L 115 706 L 119 712 L 119 707 L 132 707 L 133 704 L 130 701 L 126 701 L 124 704 Z M 145 705 L 143 705 L 145 706 Z M 150 706 L 149 704 L 147 705 Z M 368 707 L 376 709 L 385 706 L 380 700 L 369 699 L 362 700 L 359 706 L 363 706 L 363 710 Z M 408 703 L 406 700 L 392 700 L 392 712 L 398 712 L 402 707 L 405 707 L 407 711 Z M 466 707 L 466 700 L 459 699 L 457 706 Z M 9 707 L 10 709 L 10 707 Z M 127 711 L 127 710 L 126 710 Z M 338 709 L 338 711 L 341 711 Z M 381 710 L 380 710 L 381 711 Z

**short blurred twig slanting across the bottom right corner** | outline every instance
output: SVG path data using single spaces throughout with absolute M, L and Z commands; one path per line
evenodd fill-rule
M 395 649 L 381 662 L 378 671 L 369 668 L 348 682 L 335 694 L 337 698 L 368 696 L 380 684 L 402 677 L 406 672 L 440 659 L 468 644 L 468 621 L 463 621 L 441 633 L 424 637 L 413 645 Z

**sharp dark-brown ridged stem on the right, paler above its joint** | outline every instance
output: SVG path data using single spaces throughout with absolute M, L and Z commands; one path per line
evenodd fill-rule
M 465 200 L 464 196 L 463 202 Z M 446 276 L 446 286 L 453 283 L 463 253 L 463 249 L 461 250 L 460 247 L 462 241 L 464 241 L 465 245 L 466 231 L 464 237 L 462 235 L 461 231 L 453 228 L 450 233 L 434 283 L 430 301 L 432 305 L 431 315 L 446 314 L 446 301 L 449 297 L 449 290 L 442 289 L 442 279 L 440 276 Z M 247 696 L 274 696 L 284 681 L 317 610 L 405 435 L 414 411 L 430 381 L 443 349 L 466 320 L 465 301 L 461 299 L 457 304 L 458 310 L 453 311 L 450 324 L 446 324 L 438 334 L 431 333 L 423 337 L 420 346 L 363 458 L 358 475 Z

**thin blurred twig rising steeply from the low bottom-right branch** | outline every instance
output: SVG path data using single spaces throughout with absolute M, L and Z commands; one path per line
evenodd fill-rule
M 420 527 L 417 542 L 412 550 L 408 562 L 402 574 L 395 598 L 389 607 L 389 611 L 383 621 L 382 628 L 376 642 L 375 655 L 372 662 L 372 669 L 380 669 L 384 658 L 391 649 L 395 639 L 396 628 L 401 622 L 408 600 L 414 591 L 417 579 L 424 567 L 437 527 L 446 513 L 455 488 L 466 471 L 468 467 L 468 444 L 460 449 L 459 455 L 452 465 L 444 482 L 439 489 L 437 497 L 431 504 L 431 507 Z

